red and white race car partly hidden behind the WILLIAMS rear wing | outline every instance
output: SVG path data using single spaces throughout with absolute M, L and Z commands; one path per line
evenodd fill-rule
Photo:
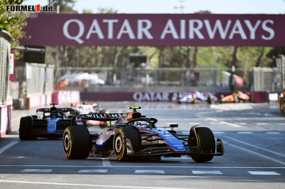
M 104 114 L 106 112 L 97 103 L 71 103 L 70 106 L 75 109 L 75 115 L 89 113 Z

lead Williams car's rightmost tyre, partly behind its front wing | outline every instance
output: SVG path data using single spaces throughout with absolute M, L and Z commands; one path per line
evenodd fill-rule
M 215 137 L 211 129 L 207 127 L 197 127 L 196 134 L 198 138 L 198 147 L 202 148 L 207 152 L 215 153 Z M 191 156 L 191 158 L 196 162 L 206 162 L 211 161 L 213 159 L 213 155 L 202 155 L 202 154 L 195 154 Z

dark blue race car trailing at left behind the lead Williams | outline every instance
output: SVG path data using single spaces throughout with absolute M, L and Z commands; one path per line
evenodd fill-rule
M 56 139 L 63 136 L 65 128 L 76 125 L 75 116 L 72 116 L 72 108 L 51 108 L 37 109 L 37 115 L 21 117 L 19 127 L 19 138 L 21 140 L 36 139 L 44 137 Z M 41 113 L 42 115 L 39 115 Z M 69 115 L 71 113 L 71 115 Z M 67 114 L 67 115 L 65 115 Z

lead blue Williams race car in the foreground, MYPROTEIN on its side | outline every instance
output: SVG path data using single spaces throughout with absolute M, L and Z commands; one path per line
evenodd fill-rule
M 181 157 L 188 155 L 196 162 L 206 162 L 214 156 L 222 156 L 224 147 L 207 127 L 190 128 L 189 135 L 177 134 L 173 128 L 156 127 L 157 119 L 142 116 L 136 109 L 133 112 L 83 114 L 77 116 L 78 126 L 65 129 L 63 134 L 63 150 L 68 159 L 86 159 L 89 157 L 116 158 L 119 161 L 135 161 L 140 159 L 160 160 L 161 157 Z M 90 134 L 82 120 L 116 121 L 100 134 Z M 163 129 L 164 128 L 164 129 Z

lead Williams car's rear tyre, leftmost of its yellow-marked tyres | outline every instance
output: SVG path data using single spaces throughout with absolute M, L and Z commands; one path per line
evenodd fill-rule
M 91 138 L 85 126 L 70 126 L 63 133 L 63 151 L 67 159 L 86 159 L 91 150 Z

